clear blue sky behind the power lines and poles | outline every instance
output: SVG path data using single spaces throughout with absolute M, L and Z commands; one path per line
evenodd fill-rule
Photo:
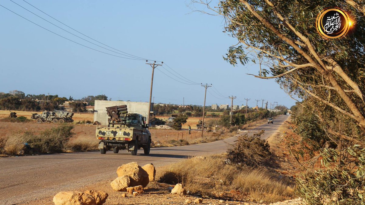
M 13 1 L 73 32 L 23 0 Z M 191 9 L 186 6 L 189 1 L 27 1 L 108 46 L 138 57 L 164 61 L 189 80 L 213 84 L 223 96 L 237 96 L 236 105 L 245 104 L 244 98 L 251 99 L 250 107 L 256 105 L 255 99 L 276 101 L 287 107 L 295 102 L 274 80 L 246 75 L 257 74 L 257 65 L 233 67 L 224 61 L 222 56 L 237 41 L 222 32 L 221 17 L 190 13 Z M 119 55 L 62 31 L 10 0 L 0 4 L 75 42 Z M 0 7 L 0 19 L 0 92 L 21 90 L 26 94 L 50 93 L 76 99 L 105 94 L 112 100 L 148 101 L 151 67 L 145 61 L 118 58 L 77 45 L 3 7 Z M 163 67 L 158 68 L 182 81 Z M 185 104 L 203 105 L 203 87 L 174 81 L 160 70 L 155 70 L 154 76 L 155 103 L 183 104 L 184 97 Z M 231 104 L 230 99 L 223 99 L 213 88 L 208 91 L 206 105 Z

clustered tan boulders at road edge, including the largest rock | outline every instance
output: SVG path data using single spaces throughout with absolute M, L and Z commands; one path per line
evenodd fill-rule
M 153 164 L 141 167 L 137 162 L 130 162 L 118 167 L 116 173 L 118 177 L 110 183 L 112 189 L 132 194 L 143 193 L 143 187 L 154 181 L 156 170 Z

